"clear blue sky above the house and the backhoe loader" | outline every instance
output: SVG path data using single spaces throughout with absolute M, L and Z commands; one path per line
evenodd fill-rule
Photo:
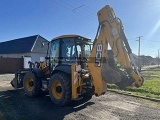
M 123 22 L 133 53 L 158 56 L 160 0 L 0 0 L 0 42 L 39 34 L 51 40 L 62 34 L 94 39 L 97 12 L 110 5 Z

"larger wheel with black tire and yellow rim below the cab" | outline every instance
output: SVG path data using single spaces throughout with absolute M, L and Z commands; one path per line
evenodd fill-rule
M 71 80 L 67 74 L 53 74 L 48 89 L 50 98 L 54 104 L 65 106 L 71 102 Z

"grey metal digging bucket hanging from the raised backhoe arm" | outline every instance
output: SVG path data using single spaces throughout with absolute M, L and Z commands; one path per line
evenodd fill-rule
M 120 89 L 124 89 L 134 82 L 133 79 L 128 77 L 128 74 L 125 71 L 120 70 L 116 66 L 114 56 L 111 54 L 111 51 L 108 52 L 107 62 L 103 63 L 102 77 L 105 82 L 109 84 L 116 84 Z

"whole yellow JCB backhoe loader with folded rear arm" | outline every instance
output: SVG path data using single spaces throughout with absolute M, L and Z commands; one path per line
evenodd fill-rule
M 106 92 L 107 83 L 124 88 L 140 87 L 143 77 L 136 69 L 123 26 L 107 5 L 98 12 L 99 27 L 91 40 L 79 35 L 63 35 L 49 43 L 46 65 L 20 70 L 11 81 L 14 88 L 24 88 L 28 96 L 37 96 L 46 88 L 54 104 L 64 106 L 72 100 L 89 100 Z M 121 69 L 108 54 L 108 44 Z

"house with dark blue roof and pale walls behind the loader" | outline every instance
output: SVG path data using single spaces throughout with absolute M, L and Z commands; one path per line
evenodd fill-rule
M 29 57 L 32 62 L 40 61 L 47 54 L 48 40 L 40 35 L 14 39 L 0 43 L 1 58 Z

